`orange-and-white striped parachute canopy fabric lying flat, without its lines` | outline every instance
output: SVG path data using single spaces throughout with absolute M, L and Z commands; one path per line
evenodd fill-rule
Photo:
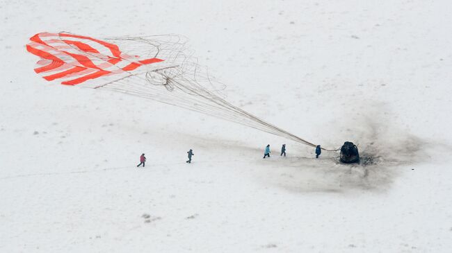
M 123 53 L 115 44 L 71 33 L 38 33 L 30 40 L 27 51 L 42 58 L 35 72 L 45 80 L 61 80 L 63 85 L 79 85 L 163 61 L 141 59 L 139 55 Z

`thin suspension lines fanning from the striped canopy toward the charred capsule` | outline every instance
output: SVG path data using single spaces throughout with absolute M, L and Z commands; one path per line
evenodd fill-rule
M 149 42 L 143 38 L 140 38 L 140 41 L 145 41 L 147 44 L 156 46 L 155 43 Z M 162 44 L 159 44 L 156 48 L 161 47 L 161 45 Z M 172 46 L 170 46 L 170 48 L 171 47 Z M 168 56 L 164 55 L 164 51 L 165 50 L 163 49 L 159 49 L 159 52 L 156 53 L 154 57 L 168 59 Z M 179 60 L 179 58 L 183 58 L 183 60 Z M 129 76 L 122 80 L 118 80 L 117 84 L 112 82 L 102 88 L 120 91 L 131 96 L 139 96 L 159 101 L 168 105 L 175 105 L 186 110 L 200 112 L 226 121 L 232 121 L 286 139 L 291 139 L 307 146 L 316 147 L 316 144 L 259 119 L 259 117 L 225 101 L 221 96 L 215 94 L 214 91 L 207 89 L 206 86 L 213 87 L 213 82 L 211 81 L 209 74 L 207 71 L 201 73 L 200 69 L 202 68 L 197 64 L 197 59 L 191 59 L 192 61 L 190 61 L 190 59 L 191 56 L 187 56 L 183 53 L 183 50 L 180 49 L 174 59 L 167 60 L 171 62 L 173 66 L 149 71 L 145 73 L 144 76 Z M 202 76 L 201 79 L 204 82 L 204 85 L 198 80 L 200 75 Z M 205 85 L 206 82 L 207 85 Z M 162 86 L 166 89 L 163 89 Z M 325 148 L 322 149 L 334 151 Z

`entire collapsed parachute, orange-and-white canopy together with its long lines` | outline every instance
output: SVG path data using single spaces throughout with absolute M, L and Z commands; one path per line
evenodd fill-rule
M 35 72 L 46 80 L 147 98 L 316 146 L 225 101 L 225 85 L 213 82 L 181 36 L 97 40 L 62 32 L 30 40 L 27 50 L 41 58 Z

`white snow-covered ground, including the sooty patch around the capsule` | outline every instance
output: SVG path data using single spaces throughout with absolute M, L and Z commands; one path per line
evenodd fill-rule
M 452 252 L 451 10 L 0 1 L 0 252 Z M 45 31 L 184 35 L 230 103 L 373 160 L 315 159 L 239 124 L 47 82 L 25 49 Z

